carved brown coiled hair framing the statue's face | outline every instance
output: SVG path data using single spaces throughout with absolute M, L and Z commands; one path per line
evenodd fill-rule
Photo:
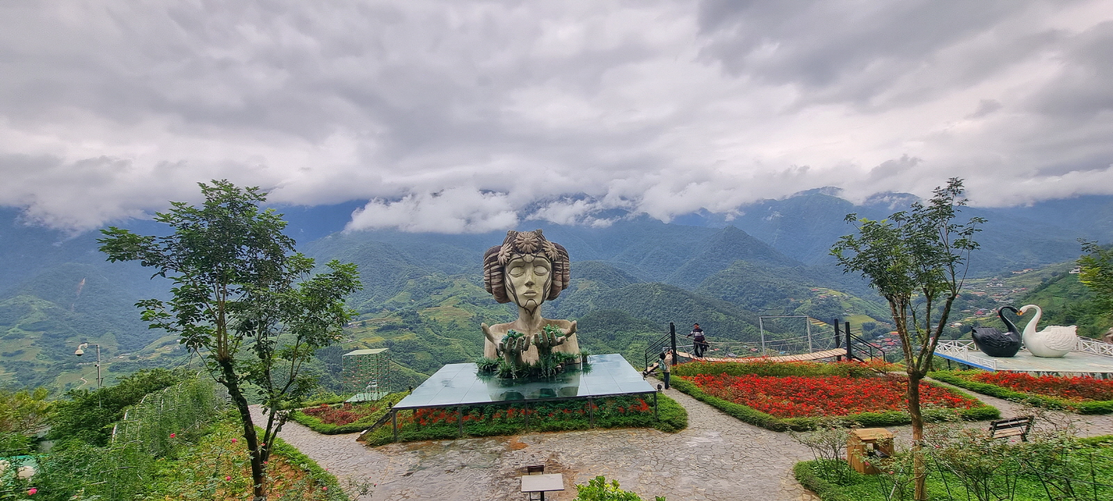
M 560 244 L 549 242 L 540 229 L 533 232 L 506 232 L 502 245 L 496 245 L 483 253 L 483 286 L 494 295 L 499 303 L 510 303 L 506 294 L 506 283 L 503 276 L 506 263 L 524 255 L 544 257 L 552 264 L 552 283 L 545 301 L 555 299 L 561 291 L 568 288 L 569 261 L 568 250 Z

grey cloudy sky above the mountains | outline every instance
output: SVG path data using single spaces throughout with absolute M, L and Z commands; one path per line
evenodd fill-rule
M 1107 0 L 0 2 L 0 205 L 55 227 L 213 178 L 482 232 L 1111 164 Z

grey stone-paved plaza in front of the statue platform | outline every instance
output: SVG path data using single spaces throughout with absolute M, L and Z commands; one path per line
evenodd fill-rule
M 667 393 L 688 410 L 689 428 L 680 433 L 591 430 L 371 448 L 356 442 L 356 434 L 322 435 L 290 422 L 280 436 L 346 483 L 353 499 L 356 484 L 370 487 L 359 501 L 519 501 L 525 498 L 519 492 L 521 469 L 542 463 L 546 473 L 564 474 L 565 491 L 548 499 L 571 500 L 574 484 L 595 475 L 615 479 L 647 500 L 818 499 L 792 478 L 792 464 L 811 453 L 788 434 L 742 423 L 683 393 Z M 1025 412 L 1007 401 L 977 396 L 1006 418 Z M 1081 434 L 1113 431 L 1113 416 L 1073 418 Z M 908 426 L 895 431 L 908 436 Z

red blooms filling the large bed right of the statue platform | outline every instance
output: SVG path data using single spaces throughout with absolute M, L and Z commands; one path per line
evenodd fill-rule
M 905 411 L 907 380 L 900 376 L 759 376 L 727 374 L 684 377 L 706 393 L 777 418 L 838 416 Z M 979 403 L 951 390 L 920 383 L 920 403 L 971 409 Z

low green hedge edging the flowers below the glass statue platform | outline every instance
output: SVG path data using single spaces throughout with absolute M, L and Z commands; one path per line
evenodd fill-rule
M 653 428 L 666 433 L 677 433 L 686 428 L 688 428 L 688 410 L 680 405 L 676 400 L 670 399 L 667 395 L 658 393 L 658 420 L 651 424 L 638 424 L 638 425 L 623 425 L 617 424 L 608 426 L 604 422 L 599 419 L 595 421 L 594 429 L 614 429 L 614 428 Z M 412 411 L 398 411 L 400 414 L 404 412 Z M 619 420 L 624 421 L 624 420 Z M 589 423 L 588 419 L 574 420 L 574 421 L 561 421 L 556 423 L 549 423 L 542 425 L 530 426 L 529 432 L 561 432 L 561 431 L 582 431 L 588 430 Z M 477 438 L 477 436 L 509 436 L 525 433 L 524 423 L 484 423 L 482 426 L 476 426 L 475 424 L 464 425 L 464 436 L 463 438 Z M 425 440 L 455 440 L 459 439 L 459 428 L 454 423 L 446 423 L 443 425 L 435 426 L 424 426 L 418 429 L 407 429 L 398 431 L 398 442 L 420 442 Z M 394 443 L 394 431 L 390 423 L 380 426 L 361 436 L 361 440 L 368 445 L 377 446 L 385 445 L 387 443 Z

